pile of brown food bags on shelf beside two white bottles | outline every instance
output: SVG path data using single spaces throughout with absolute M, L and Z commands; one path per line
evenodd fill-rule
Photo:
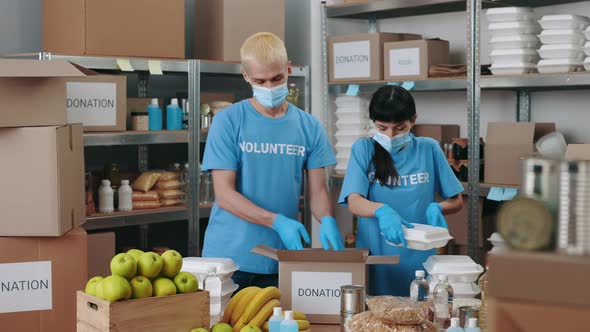
M 183 203 L 179 175 L 175 172 L 143 172 L 131 185 L 133 209 L 155 209 Z

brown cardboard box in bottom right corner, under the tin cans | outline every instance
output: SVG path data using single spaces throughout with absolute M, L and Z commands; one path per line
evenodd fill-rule
M 489 331 L 587 330 L 587 257 L 510 252 L 490 255 L 489 259 Z

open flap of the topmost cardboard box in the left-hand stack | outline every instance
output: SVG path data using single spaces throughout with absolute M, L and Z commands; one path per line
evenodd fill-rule
M 68 61 L 0 60 L 0 77 L 81 77 L 86 74 Z

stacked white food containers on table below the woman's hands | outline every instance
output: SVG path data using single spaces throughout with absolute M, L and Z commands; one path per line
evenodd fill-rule
M 440 276 L 446 275 L 455 298 L 474 298 L 481 292 L 477 279 L 483 273 L 483 267 L 469 256 L 430 256 L 422 265 L 428 272 L 431 291 L 438 284 Z

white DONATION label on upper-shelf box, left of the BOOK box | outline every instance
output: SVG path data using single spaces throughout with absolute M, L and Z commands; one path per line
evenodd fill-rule
M 334 43 L 334 78 L 371 77 L 371 43 L 368 40 Z

